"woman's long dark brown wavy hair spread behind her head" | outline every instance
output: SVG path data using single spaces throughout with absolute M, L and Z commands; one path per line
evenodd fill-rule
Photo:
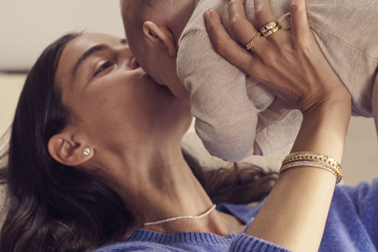
M 67 34 L 48 46 L 28 73 L 0 155 L 0 181 L 7 185 L 0 252 L 79 252 L 125 240 L 139 223 L 121 198 L 95 176 L 60 164 L 49 139 L 70 122 L 54 76 Z M 277 174 L 258 167 L 204 172 L 184 158 L 214 203 L 245 204 L 268 195 Z

